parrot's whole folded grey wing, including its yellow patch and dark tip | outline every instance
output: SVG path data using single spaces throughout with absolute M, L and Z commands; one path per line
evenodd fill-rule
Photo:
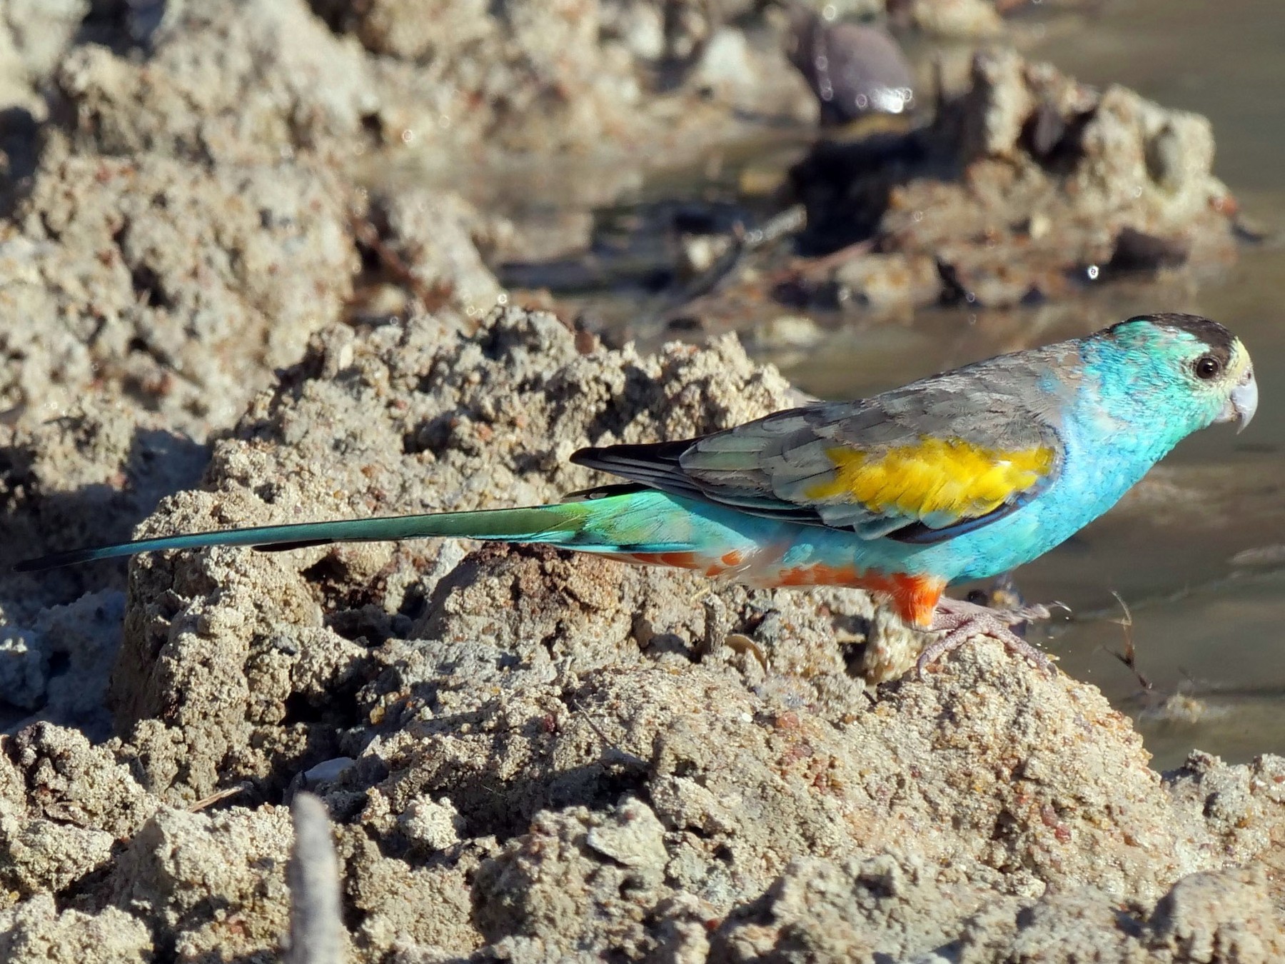
M 756 515 L 933 542 L 993 522 L 1056 479 L 1068 344 L 725 432 L 585 449 L 573 461 Z

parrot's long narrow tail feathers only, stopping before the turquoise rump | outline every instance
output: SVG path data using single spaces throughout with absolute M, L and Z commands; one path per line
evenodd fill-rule
M 605 500 L 604 500 L 605 501 Z M 181 536 L 140 539 L 134 542 L 72 549 L 66 553 L 26 559 L 15 572 L 39 572 L 58 566 L 112 559 L 135 553 L 166 549 L 197 549 L 216 545 L 247 545 L 269 551 L 301 549 L 325 542 L 378 542 L 425 536 L 460 536 L 466 539 L 502 540 L 508 542 L 554 542 L 573 546 L 585 533 L 585 523 L 599 503 L 559 503 L 524 509 L 483 509 L 478 512 L 446 512 L 425 515 L 388 515 L 374 519 L 335 522 L 301 522 L 290 526 L 257 526 L 222 532 L 189 532 Z M 576 546 L 591 549 L 595 546 Z M 600 549 L 605 550 L 603 546 Z

